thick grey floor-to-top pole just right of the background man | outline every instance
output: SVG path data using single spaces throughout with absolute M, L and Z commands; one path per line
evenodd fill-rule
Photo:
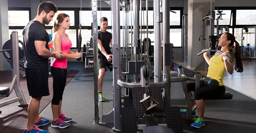
M 113 87 L 114 87 L 114 127 L 112 131 L 121 132 L 121 87 L 117 81 L 121 79 L 120 74 L 120 4 L 119 0 L 112 1 L 113 13 Z

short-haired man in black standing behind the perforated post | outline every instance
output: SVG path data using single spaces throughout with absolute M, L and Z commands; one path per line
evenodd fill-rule
M 106 67 L 110 71 L 113 69 L 110 68 L 112 65 L 112 53 L 110 51 L 110 46 L 112 45 L 112 34 L 107 32 L 108 21 L 106 17 L 100 18 L 100 31 L 98 31 L 98 70 L 99 70 L 99 101 L 105 101 L 104 96 L 102 95 L 102 84 L 103 78 L 105 75 Z

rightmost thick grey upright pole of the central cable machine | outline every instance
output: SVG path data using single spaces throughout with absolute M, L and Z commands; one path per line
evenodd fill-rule
M 165 59 L 165 43 L 170 43 L 170 1 L 163 1 L 163 60 Z M 163 61 L 163 79 L 168 79 L 168 84 L 164 88 L 164 106 L 170 106 L 170 67 L 165 66 L 165 61 Z

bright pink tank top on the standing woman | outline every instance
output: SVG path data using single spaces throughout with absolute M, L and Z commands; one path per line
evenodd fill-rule
M 58 31 L 57 31 L 58 32 Z M 56 32 L 55 32 L 56 33 Z M 60 33 L 60 32 L 58 32 Z M 60 34 L 61 35 L 61 34 Z M 66 35 L 66 34 L 65 34 Z M 62 35 L 61 35 L 62 36 Z M 68 37 L 68 36 L 67 36 Z M 68 39 L 70 40 L 70 39 Z M 72 42 L 71 41 L 66 41 L 65 38 L 63 38 L 62 36 L 62 52 L 65 52 L 68 54 L 68 51 L 69 49 L 71 48 L 72 46 Z M 53 43 L 53 49 L 55 51 L 55 47 L 54 47 L 54 43 Z M 52 61 L 51 65 L 52 67 L 56 67 L 56 68 L 62 68 L 62 69 L 66 69 L 67 67 L 67 62 L 68 62 L 68 59 L 67 58 L 64 58 L 64 59 L 55 59 Z

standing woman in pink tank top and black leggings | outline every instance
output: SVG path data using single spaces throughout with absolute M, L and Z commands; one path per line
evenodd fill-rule
M 66 29 L 70 27 L 70 17 L 65 13 L 58 14 L 53 25 L 53 49 L 62 51 L 64 59 L 54 59 L 50 65 L 50 72 L 53 77 L 53 98 L 52 98 L 52 127 L 65 128 L 70 125 L 73 118 L 66 117 L 61 110 L 62 95 L 66 85 L 67 62 L 68 58 L 77 59 L 82 56 L 81 52 L 72 52 L 70 50 L 72 43 L 65 34 Z

